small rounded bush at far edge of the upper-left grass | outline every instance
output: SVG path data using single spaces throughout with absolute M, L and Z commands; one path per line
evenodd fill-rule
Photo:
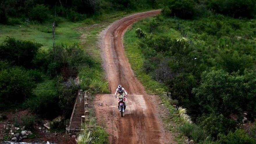
M 33 7 L 32 13 L 30 13 L 30 16 L 33 20 L 36 20 L 40 23 L 44 22 L 49 17 L 49 9 L 43 5 L 39 4 Z

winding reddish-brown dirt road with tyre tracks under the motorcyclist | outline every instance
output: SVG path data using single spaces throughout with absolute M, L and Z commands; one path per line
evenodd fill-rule
M 111 93 L 118 84 L 127 90 L 127 109 L 121 118 L 117 99 L 112 95 L 97 95 L 94 102 L 97 121 L 106 125 L 109 143 L 174 143 L 161 126 L 155 96 L 146 95 L 125 56 L 122 42 L 125 31 L 136 21 L 158 15 L 161 10 L 137 13 L 124 17 L 101 33 L 100 46 L 104 69 Z

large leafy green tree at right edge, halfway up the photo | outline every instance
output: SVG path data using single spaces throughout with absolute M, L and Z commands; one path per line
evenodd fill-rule
M 193 93 L 206 113 L 222 113 L 228 117 L 239 110 L 255 117 L 256 73 L 245 70 L 244 75 L 228 74 L 223 70 L 203 72 L 201 84 Z

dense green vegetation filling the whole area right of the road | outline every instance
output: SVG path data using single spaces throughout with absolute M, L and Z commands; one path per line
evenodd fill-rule
M 141 54 L 142 71 L 187 109 L 194 124 L 184 120 L 180 131 L 196 143 L 255 143 L 240 128 L 245 115 L 256 118 L 256 1 L 166 2 L 161 16 L 127 32 L 127 42 L 136 41 L 128 55 Z M 150 91 L 160 90 L 133 67 Z

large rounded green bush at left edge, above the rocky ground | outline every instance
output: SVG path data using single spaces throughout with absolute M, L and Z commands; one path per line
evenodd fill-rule
M 0 71 L 0 107 L 17 104 L 32 94 L 35 84 L 20 67 Z

